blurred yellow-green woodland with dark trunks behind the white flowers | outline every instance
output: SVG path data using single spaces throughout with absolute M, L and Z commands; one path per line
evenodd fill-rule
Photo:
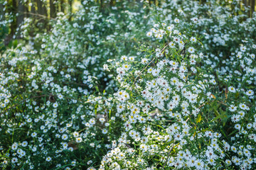
M 116 6 L 120 0 L 94 0 L 102 13 L 107 11 L 107 8 Z M 149 5 L 154 4 L 155 6 L 161 6 L 164 0 L 125 0 L 125 1 L 137 1 L 143 2 L 147 1 Z M 171 0 L 166 0 L 171 1 Z M 178 2 L 178 0 L 176 0 Z M 210 4 L 212 0 L 195 0 L 200 1 L 203 4 Z M 245 11 L 246 15 L 252 17 L 252 13 L 255 11 L 255 1 L 256 0 L 216 0 L 218 4 L 222 6 L 230 6 L 234 10 L 234 15 L 236 8 L 240 8 Z M 16 35 L 19 26 L 24 21 L 25 18 L 33 19 L 36 28 L 40 31 L 50 30 L 48 22 L 54 20 L 57 13 L 62 12 L 68 14 L 69 20 L 72 21 L 72 14 L 75 10 L 78 10 L 78 4 L 84 3 L 78 0 L 0 0 L 0 22 L 8 21 L 8 24 L 0 24 L 0 41 L 2 46 L 8 45 L 11 40 L 19 38 Z M 238 6 L 239 5 L 239 6 Z M 8 30 L 6 30 L 8 28 Z M 31 28 L 31 36 L 37 33 Z M 4 42 L 3 42 L 4 40 Z M 0 44 L 0 49 L 1 49 Z

